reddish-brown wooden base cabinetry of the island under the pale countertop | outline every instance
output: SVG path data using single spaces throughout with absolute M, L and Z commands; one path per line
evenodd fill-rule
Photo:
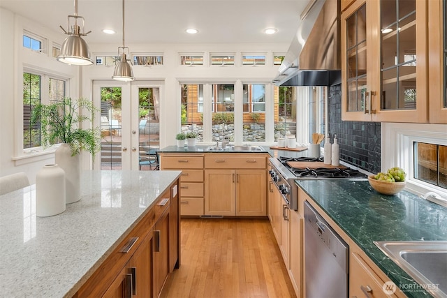
M 159 297 L 180 265 L 179 181 L 154 206 L 73 297 Z

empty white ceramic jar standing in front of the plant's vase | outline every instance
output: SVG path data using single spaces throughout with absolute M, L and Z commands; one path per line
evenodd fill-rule
M 36 216 L 65 211 L 65 172 L 59 165 L 44 165 L 36 174 Z

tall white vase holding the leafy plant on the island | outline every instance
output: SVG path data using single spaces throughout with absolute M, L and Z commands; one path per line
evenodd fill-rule
M 54 160 L 65 172 L 66 203 L 78 202 L 80 195 L 80 154 L 71 156 L 69 144 L 62 143 L 54 152 Z

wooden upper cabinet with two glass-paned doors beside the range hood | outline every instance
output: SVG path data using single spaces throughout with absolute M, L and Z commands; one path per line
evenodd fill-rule
M 344 10 L 343 120 L 428 122 L 427 10 L 416 0 L 358 0 Z

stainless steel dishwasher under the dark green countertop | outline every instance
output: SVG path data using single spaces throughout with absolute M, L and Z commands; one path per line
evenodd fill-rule
M 346 298 L 349 246 L 308 202 L 304 211 L 306 298 Z

